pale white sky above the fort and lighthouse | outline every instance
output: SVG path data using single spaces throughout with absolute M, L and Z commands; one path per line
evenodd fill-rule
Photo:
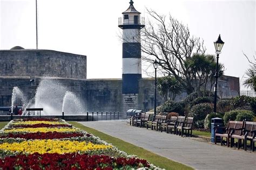
M 0 0 L 0 49 L 36 49 L 36 1 Z M 87 78 L 122 78 L 122 30 L 118 17 L 130 0 L 37 0 L 38 49 L 87 56 Z M 206 53 L 215 54 L 218 35 L 225 42 L 219 62 L 227 76 L 240 81 L 249 64 L 243 52 L 256 56 L 256 2 L 230 0 L 134 0 L 149 21 L 147 9 L 171 15 L 204 39 Z M 147 64 L 143 63 L 143 77 Z M 152 66 L 153 70 L 153 66 Z M 149 71 L 149 70 L 147 70 Z M 241 86 L 241 90 L 245 89 Z

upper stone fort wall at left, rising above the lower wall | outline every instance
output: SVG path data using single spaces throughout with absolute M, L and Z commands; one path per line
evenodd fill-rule
M 0 76 L 86 79 L 86 56 L 53 50 L 0 50 Z

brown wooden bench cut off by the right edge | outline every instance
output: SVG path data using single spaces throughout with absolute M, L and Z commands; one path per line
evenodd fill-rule
M 235 127 L 233 131 L 231 132 L 230 138 L 231 138 L 231 147 L 234 145 L 234 139 L 238 140 L 238 148 L 241 146 L 241 141 L 244 142 L 244 149 L 247 150 L 247 140 L 250 141 L 250 147 L 253 148 L 253 138 L 254 132 L 256 132 L 256 122 L 252 121 L 245 121 L 243 127 Z

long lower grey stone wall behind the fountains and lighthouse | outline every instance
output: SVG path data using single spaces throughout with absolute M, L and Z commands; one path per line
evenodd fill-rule
M 234 82 L 239 82 L 239 78 L 228 76 L 226 76 L 227 81 L 219 80 L 218 96 L 221 98 L 238 96 L 237 91 L 231 89 L 229 78 Z M 53 79 L 67 87 L 67 90 L 75 93 L 82 100 L 83 107 L 86 107 L 88 112 L 123 112 L 129 109 L 126 107 L 127 105 L 123 105 L 123 101 L 129 98 L 126 96 L 124 99 L 122 95 L 122 79 Z M 12 89 L 15 86 L 18 86 L 29 98 L 32 98 L 40 80 L 41 78 L 36 77 L 36 85 L 31 86 L 30 77 L 0 77 L 0 106 L 11 105 Z M 186 93 L 182 93 L 177 97 L 177 100 L 186 96 Z M 153 78 L 140 79 L 139 94 L 136 96 L 136 100 L 138 100 L 136 109 L 149 111 L 154 108 Z M 163 103 L 163 98 L 157 92 L 157 106 Z

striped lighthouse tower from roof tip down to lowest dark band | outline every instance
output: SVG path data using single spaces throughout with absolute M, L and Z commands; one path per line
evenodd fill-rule
M 119 28 L 123 29 L 123 94 L 138 94 L 139 79 L 142 78 L 142 54 L 140 29 L 144 28 L 144 19 L 140 17 L 130 1 L 129 8 L 119 18 Z

